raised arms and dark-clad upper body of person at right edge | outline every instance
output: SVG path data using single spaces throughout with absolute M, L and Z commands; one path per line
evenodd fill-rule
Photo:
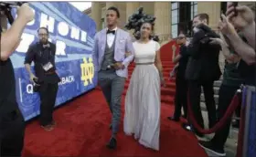
M 237 12 L 237 16 L 235 16 L 235 12 Z M 227 17 L 222 15 L 223 20 L 219 22 L 219 29 L 227 37 L 229 47 L 233 47 L 241 57 L 238 68 L 241 77 L 244 78 L 243 84 L 255 86 L 255 14 L 248 6 L 243 5 L 235 8 L 231 3 L 228 5 L 226 14 Z M 240 29 L 246 42 L 240 38 L 235 28 Z

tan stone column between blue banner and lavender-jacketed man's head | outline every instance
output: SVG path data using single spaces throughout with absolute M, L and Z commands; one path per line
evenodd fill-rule
M 101 5 L 99 2 L 91 3 L 91 18 L 95 21 L 99 31 L 101 29 Z

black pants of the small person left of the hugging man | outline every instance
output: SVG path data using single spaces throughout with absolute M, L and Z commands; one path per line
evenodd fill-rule
M 176 78 L 176 98 L 174 118 L 179 119 L 181 108 L 184 110 L 184 116 L 187 117 L 187 80 L 184 77 Z

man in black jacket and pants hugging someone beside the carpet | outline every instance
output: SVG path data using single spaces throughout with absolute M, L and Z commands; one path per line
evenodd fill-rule
M 208 27 L 207 14 L 195 16 L 193 27 L 194 36 L 187 47 L 188 54 L 190 55 L 186 70 L 188 97 L 197 123 L 204 128 L 204 120 L 200 110 L 200 94 L 201 87 L 203 87 L 208 110 L 209 127 L 213 127 L 217 119 L 213 83 L 219 79 L 221 71 L 219 68 L 220 47 L 219 45 L 212 45 L 210 38 L 219 37 L 219 35 Z M 195 131 L 198 136 L 202 136 L 197 130 Z

